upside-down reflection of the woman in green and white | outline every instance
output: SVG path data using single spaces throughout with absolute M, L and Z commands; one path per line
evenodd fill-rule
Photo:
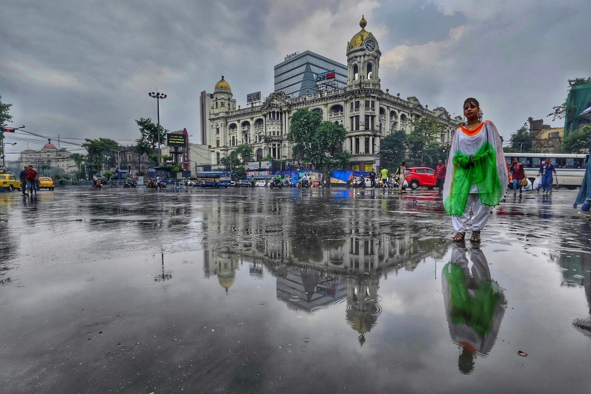
M 476 356 L 486 357 L 495 344 L 506 300 L 491 279 L 486 258 L 473 245 L 470 263 L 465 244 L 452 250 L 452 261 L 443 267 L 443 294 L 447 323 L 453 343 L 459 346 L 458 367 L 462 373 L 474 370 Z

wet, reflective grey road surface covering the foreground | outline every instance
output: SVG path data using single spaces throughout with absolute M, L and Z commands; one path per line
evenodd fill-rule
M 0 193 L 1 391 L 586 390 L 574 197 L 508 196 L 478 247 L 428 190 Z

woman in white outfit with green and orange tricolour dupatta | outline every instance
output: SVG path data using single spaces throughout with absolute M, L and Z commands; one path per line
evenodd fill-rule
M 469 97 L 464 102 L 465 126 L 453 135 L 447 158 L 443 190 L 443 206 L 452 216 L 456 235 L 454 242 L 462 242 L 472 215 L 470 242 L 480 242 L 480 231 L 491 214 L 491 207 L 501 203 L 507 188 L 507 165 L 501 137 L 491 121 L 480 121 L 478 100 Z

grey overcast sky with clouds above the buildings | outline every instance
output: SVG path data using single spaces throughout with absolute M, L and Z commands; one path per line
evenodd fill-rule
M 382 90 L 461 114 L 474 96 L 508 139 L 591 76 L 589 0 L 0 0 L 0 96 L 13 126 L 64 141 L 131 145 L 135 119 L 187 128 L 199 143 L 199 93 L 225 76 L 238 104 L 273 91 L 294 51 L 346 64 L 362 15 L 382 51 Z M 77 139 L 74 139 L 77 138 Z M 9 135 L 8 152 L 46 140 Z M 7 156 L 16 159 L 17 153 Z

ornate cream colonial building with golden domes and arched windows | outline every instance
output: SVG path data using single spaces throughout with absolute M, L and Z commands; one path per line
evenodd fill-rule
M 352 168 L 365 171 L 379 161 L 381 139 L 397 130 L 412 131 L 411 122 L 428 116 L 446 128 L 440 142 L 451 141 L 462 118 L 452 118 L 446 109 L 433 110 L 421 105 L 417 97 L 400 98 L 400 94 L 384 92 L 379 77 L 381 51 L 366 21 L 359 23 L 361 31 L 353 35 L 346 47 L 346 85 L 332 90 L 290 97 L 284 91 L 273 92 L 259 105 L 238 108 L 230 84 L 224 79 L 216 83 L 213 93 L 202 93 L 204 123 L 202 141 L 210 146 L 213 166 L 221 158 L 236 155 L 236 146 L 253 147 L 255 161 L 270 155 L 273 159 L 291 162 L 292 145 L 287 140 L 291 115 L 307 108 L 322 114 L 323 121 L 343 125 L 347 131 L 342 149 L 351 152 Z M 285 62 L 284 62 L 285 63 Z M 296 164 L 297 163 L 292 163 Z

